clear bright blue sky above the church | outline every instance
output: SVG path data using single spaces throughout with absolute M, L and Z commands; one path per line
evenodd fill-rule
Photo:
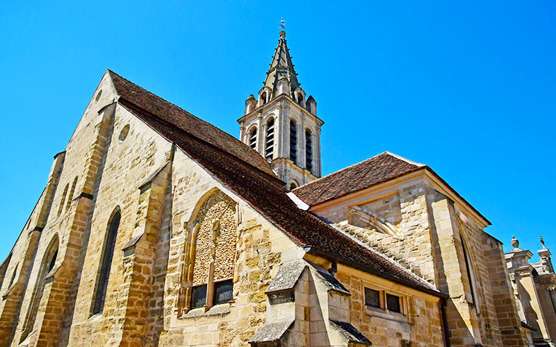
M 554 1 L 2 1 L 0 258 L 107 68 L 237 136 L 281 17 L 324 174 L 391 151 L 556 251 Z

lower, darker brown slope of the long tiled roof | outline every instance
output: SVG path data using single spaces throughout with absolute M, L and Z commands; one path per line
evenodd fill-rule
M 131 82 L 127 81 L 127 83 Z M 133 90 L 140 91 L 142 88 L 133 87 Z M 137 98 L 145 100 L 143 96 L 137 96 Z M 159 102 L 160 98 L 156 98 Z M 206 136 L 199 138 L 181 127 L 169 124 L 165 121 L 167 115 L 146 112 L 149 105 L 143 104 L 138 108 L 130 103 L 120 104 L 163 137 L 174 142 L 179 149 L 204 167 L 217 180 L 220 180 L 224 186 L 243 198 L 254 210 L 261 213 L 291 237 L 295 243 L 310 250 L 311 253 L 325 255 L 329 259 L 408 287 L 441 295 L 439 291 L 425 284 L 423 280 L 412 276 L 407 270 L 400 269 L 398 264 L 369 251 L 311 212 L 297 208 L 297 205 L 286 195 L 288 191 L 283 185 L 277 183 L 269 175 L 255 170 L 251 163 L 243 161 L 240 156 L 224 151 L 217 144 L 207 141 Z M 156 112 L 165 112 L 164 108 L 151 109 Z M 238 139 L 232 138 L 239 142 Z M 238 145 L 231 144 L 231 146 Z

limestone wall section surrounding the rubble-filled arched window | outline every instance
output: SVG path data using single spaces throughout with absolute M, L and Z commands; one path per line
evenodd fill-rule
M 215 192 L 218 194 L 213 195 Z M 302 257 L 303 251 L 181 151 L 174 158 L 172 195 L 172 237 L 163 298 L 163 331 L 158 344 L 249 346 L 247 341 L 265 323 L 264 291 L 278 270 L 277 264 Z M 236 204 L 234 300 L 208 307 L 206 312 L 203 308 L 183 312 L 184 258 L 207 196 L 220 198 L 224 205 L 229 205 L 229 199 Z

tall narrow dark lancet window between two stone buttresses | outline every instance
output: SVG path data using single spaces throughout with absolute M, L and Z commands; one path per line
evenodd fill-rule
M 117 229 L 120 228 L 121 217 L 122 215 L 120 214 L 120 210 L 115 210 L 112 219 L 108 224 L 108 235 L 106 235 L 104 252 L 102 254 L 99 280 L 97 282 L 97 290 L 95 291 L 95 305 L 92 309 L 93 314 L 100 313 L 104 309 L 104 301 L 106 300 L 106 289 L 108 289 L 108 278 L 110 277 L 110 268 L 112 265 L 114 248 L 116 246 Z

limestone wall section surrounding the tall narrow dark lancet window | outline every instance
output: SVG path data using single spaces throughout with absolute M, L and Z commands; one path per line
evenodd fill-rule
M 129 126 L 126 136 L 122 130 Z M 135 289 L 130 287 L 130 277 L 147 283 L 150 278 L 151 266 L 144 268 L 145 276 L 136 276 L 136 271 L 142 269 L 136 262 L 136 256 L 124 259 L 122 248 L 133 237 L 147 233 L 145 238 L 156 244 L 156 236 L 149 236 L 150 228 L 154 228 L 154 235 L 158 235 L 161 212 L 166 201 L 163 183 L 145 188 L 149 176 L 163 171 L 172 155 L 172 144 L 156 134 L 151 128 L 142 123 L 127 110 L 117 105 L 115 108 L 113 130 L 109 135 L 109 146 L 101 158 L 99 176 L 93 185 L 93 208 L 90 212 L 88 243 L 85 244 L 83 266 L 79 282 L 75 291 L 75 308 L 68 320 L 67 343 L 74 344 L 120 344 L 124 335 L 124 327 L 129 325 L 129 309 L 138 305 L 146 306 L 149 298 L 129 301 L 127 294 Z M 143 188 L 143 189 L 140 189 Z M 156 194 L 156 196 L 153 196 Z M 154 199 L 154 201 L 153 201 Z M 149 221 L 151 205 L 158 205 L 154 212 L 158 221 Z M 121 212 L 120 227 L 117 230 L 115 250 L 108 280 L 106 301 L 102 314 L 92 312 L 95 291 L 99 278 L 101 257 L 106 243 L 108 223 L 115 209 Z M 141 247 L 140 247 L 141 248 Z M 151 251 L 142 251 L 141 257 L 153 258 Z M 147 253 L 147 254 L 145 254 Z M 121 289 L 121 290 L 120 290 Z M 149 292 L 149 289 L 145 289 Z M 71 323 L 70 323 L 71 322 Z M 142 333 L 143 326 L 140 328 Z

